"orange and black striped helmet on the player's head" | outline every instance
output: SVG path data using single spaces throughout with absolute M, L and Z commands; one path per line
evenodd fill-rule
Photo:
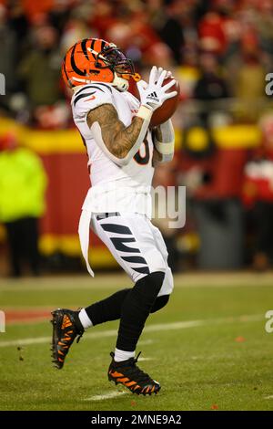
M 62 75 L 69 88 L 90 81 L 111 83 L 115 74 L 138 80 L 132 61 L 114 43 L 100 38 L 85 38 L 66 52 Z

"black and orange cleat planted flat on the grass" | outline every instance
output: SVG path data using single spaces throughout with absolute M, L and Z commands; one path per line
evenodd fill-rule
M 146 372 L 141 371 L 136 366 L 139 355 L 140 352 L 136 359 L 130 358 L 126 361 L 116 362 L 114 360 L 115 354 L 112 351 L 110 353 L 112 361 L 108 370 L 108 380 L 116 384 L 123 384 L 127 389 L 136 394 L 157 394 L 161 387 L 159 382 L 152 380 Z

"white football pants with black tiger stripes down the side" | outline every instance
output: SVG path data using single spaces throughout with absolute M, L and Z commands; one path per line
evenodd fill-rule
M 91 228 L 134 283 L 147 274 L 164 271 L 158 297 L 171 294 L 174 282 L 167 265 L 167 247 L 159 229 L 146 215 L 92 214 Z

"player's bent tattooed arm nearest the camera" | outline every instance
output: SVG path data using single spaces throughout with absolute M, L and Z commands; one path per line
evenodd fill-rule
M 113 162 L 123 166 L 130 162 L 138 151 L 145 138 L 151 115 L 151 110 L 142 107 L 126 127 L 118 119 L 115 107 L 112 104 L 103 104 L 89 111 L 87 124 L 102 151 Z

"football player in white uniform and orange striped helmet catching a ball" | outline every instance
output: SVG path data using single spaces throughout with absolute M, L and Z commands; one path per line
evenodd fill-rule
M 173 157 L 171 120 L 152 135 L 152 114 L 166 99 L 175 80 L 164 85 L 170 72 L 153 67 L 149 81 L 139 81 L 130 59 L 113 43 L 84 39 L 66 53 L 62 68 L 76 127 L 86 145 L 92 187 L 79 222 L 79 238 L 88 272 L 89 228 L 106 244 L 135 286 L 85 309 L 56 309 L 53 314 L 52 350 L 61 369 L 66 354 L 84 331 L 119 319 L 116 350 L 108 379 L 137 394 L 157 393 L 160 384 L 136 365 L 136 344 L 147 317 L 162 309 L 173 290 L 167 265 L 167 248 L 159 230 L 150 222 L 153 157 L 167 162 Z M 129 78 L 137 81 L 140 101 L 127 91 Z

